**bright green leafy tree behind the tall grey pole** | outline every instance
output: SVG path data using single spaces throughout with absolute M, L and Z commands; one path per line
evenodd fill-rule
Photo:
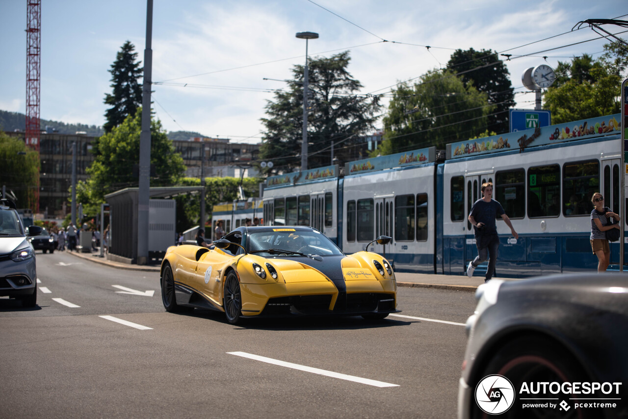
M 97 212 L 97 206 L 104 203 L 106 194 L 138 186 L 139 178 L 134 165 L 139 165 L 141 115 L 140 107 L 135 115 L 127 116 L 121 125 L 94 142 L 94 162 L 87 168 L 90 177 L 87 182 L 77 184 L 77 201 L 84 204 L 85 214 Z M 151 165 L 154 165 L 156 174 L 151 177 L 151 186 L 173 186 L 185 172 L 181 155 L 175 153 L 158 120 L 151 120 Z M 86 202 L 95 206 L 96 210 L 87 210 Z M 89 208 L 93 210 L 91 206 Z

